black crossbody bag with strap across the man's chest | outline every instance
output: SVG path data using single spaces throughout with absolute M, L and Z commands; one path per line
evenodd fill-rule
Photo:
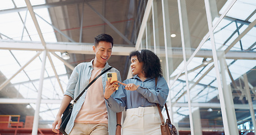
M 66 110 L 64 111 L 62 117 L 61 117 L 61 124 L 60 124 L 60 129 L 59 131 L 62 133 L 62 134 L 65 134 L 65 135 L 68 135 L 66 132 L 65 132 L 65 129 L 66 129 L 66 125 L 68 124 L 69 122 L 69 119 L 70 119 L 70 116 L 72 114 L 72 110 L 73 110 L 73 106 L 74 104 L 78 101 L 78 99 L 83 95 L 84 92 L 86 92 L 86 90 L 89 88 L 89 86 L 92 85 L 92 83 L 95 82 L 95 80 L 97 80 L 102 74 L 106 73 L 107 71 L 109 71 L 112 67 L 106 69 L 105 71 L 103 71 L 101 74 L 99 74 L 95 79 L 92 80 L 92 82 L 90 82 L 88 84 L 88 86 L 86 88 L 84 88 L 84 90 L 78 95 L 77 98 L 75 98 L 73 104 L 69 104 L 68 107 L 66 107 Z

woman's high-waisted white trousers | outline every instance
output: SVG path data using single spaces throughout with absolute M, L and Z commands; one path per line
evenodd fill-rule
M 123 123 L 123 135 L 160 135 L 161 119 L 157 106 L 127 109 Z

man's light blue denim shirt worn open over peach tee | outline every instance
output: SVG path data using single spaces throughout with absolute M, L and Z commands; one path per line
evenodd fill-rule
M 92 75 L 92 70 L 93 70 L 92 62 L 93 62 L 93 60 L 91 62 L 83 62 L 81 64 L 78 64 L 74 68 L 74 70 L 69 78 L 69 82 L 68 82 L 66 92 L 64 93 L 64 95 L 68 95 L 68 96 L 72 97 L 74 100 L 75 98 L 78 97 L 80 92 L 82 92 L 83 89 L 86 88 L 86 86 L 89 84 L 89 79 L 91 78 L 91 75 Z M 101 70 L 101 72 L 108 69 L 109 67 L 110 67 L 109 64 L 106 63 L 105 67 Z M 107 72 L 116 72 L 118 75 L 118 80 L 122 81 L 120 73 L 117 69 L 112 68 Z M 107 80 L 107 77 L 106 77 L 106 73 L 105 73 L 102 75 L 102 86 L 103 86 L 104 92 L 105 92 L 105 87 L 106 87 L 106 80 Z M 65 129 L 65 132 L 68 134 L 71 132 L 72 128 L 74 127 L 75 118 L 77 117 L 77 114 L 83 105 L 83 102 L 86 97 L 86 93 L 87 93 L 87 91 L 84 92 L 83 95 L 77 101 L 77 103 L 74 104 L 73 111 L 70 116 L 70 120 Z M 102 94 L 104 95 L 104 93 L 102 93 Z M 113 95 L 115 95 L 115 93 L 113 93 Z M 106 101 L 105 101 L 105 103 L 106 103 Z M 108 124 L 109 125 L 109 134 L 112 135 L 112 134 L 115 134 L 115 130 L 116 130 L 116 113 L 114 113 L 111 109 L 109 109 L 109 106 L 107 106 L 107 103 L 106 103 L 106 107 L 107 107 L 107 115 L 108 115 L 108 122 L 109 122 L 109 124 Z

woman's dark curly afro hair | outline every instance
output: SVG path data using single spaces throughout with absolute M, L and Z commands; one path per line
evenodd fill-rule
M 146 78 L 162 77 L 161 64 L 159 57 L 150 50 L 133 51 L 129 55 L 131 60 L 132 56 L 137 56 L 139 62 L 143 62 L 143 72 Z

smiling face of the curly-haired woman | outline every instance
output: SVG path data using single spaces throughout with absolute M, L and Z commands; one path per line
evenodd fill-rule
M 133 75 L 138 75 L 138 77 L 144 77 L 142 74 L 143 70 L 143 62 L 139 62 L 137 56 L 132 56 L 131 57 L 131 68 L 132 68 L 132 74 Z

